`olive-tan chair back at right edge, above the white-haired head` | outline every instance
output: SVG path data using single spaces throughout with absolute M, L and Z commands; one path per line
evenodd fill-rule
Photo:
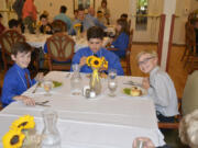
M 182 112 L 183 115 L 191 113 L 198 109 L 198 70 L 188 76 L 186 81 L 183 99 Z

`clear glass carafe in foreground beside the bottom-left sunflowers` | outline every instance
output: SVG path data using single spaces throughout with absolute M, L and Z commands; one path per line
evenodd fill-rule
M 56 127 L 57 113 L 53 110 L 44 110 L 42 115 L 44 121 L 42 148 L 61 148 L 61 136 Z

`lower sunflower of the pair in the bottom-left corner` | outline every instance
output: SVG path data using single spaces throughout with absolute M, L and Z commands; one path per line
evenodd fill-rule
M 3 137 L 3 148 L 21 148 L 25 136 L 20 129 L 10 129 Z

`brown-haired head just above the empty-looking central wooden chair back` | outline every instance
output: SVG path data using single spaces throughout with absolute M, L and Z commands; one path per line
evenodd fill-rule
M 62 20 L 54 20 L 52 23 L 52 29 L 54 33 L 67 32 L 67 24 Z

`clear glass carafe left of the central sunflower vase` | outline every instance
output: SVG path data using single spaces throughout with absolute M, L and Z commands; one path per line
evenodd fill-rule
M 70 91 L 73 95 L 79 95 L 82 91 L 79 65 L 73 65 L 73 76 L 70 78 Z

